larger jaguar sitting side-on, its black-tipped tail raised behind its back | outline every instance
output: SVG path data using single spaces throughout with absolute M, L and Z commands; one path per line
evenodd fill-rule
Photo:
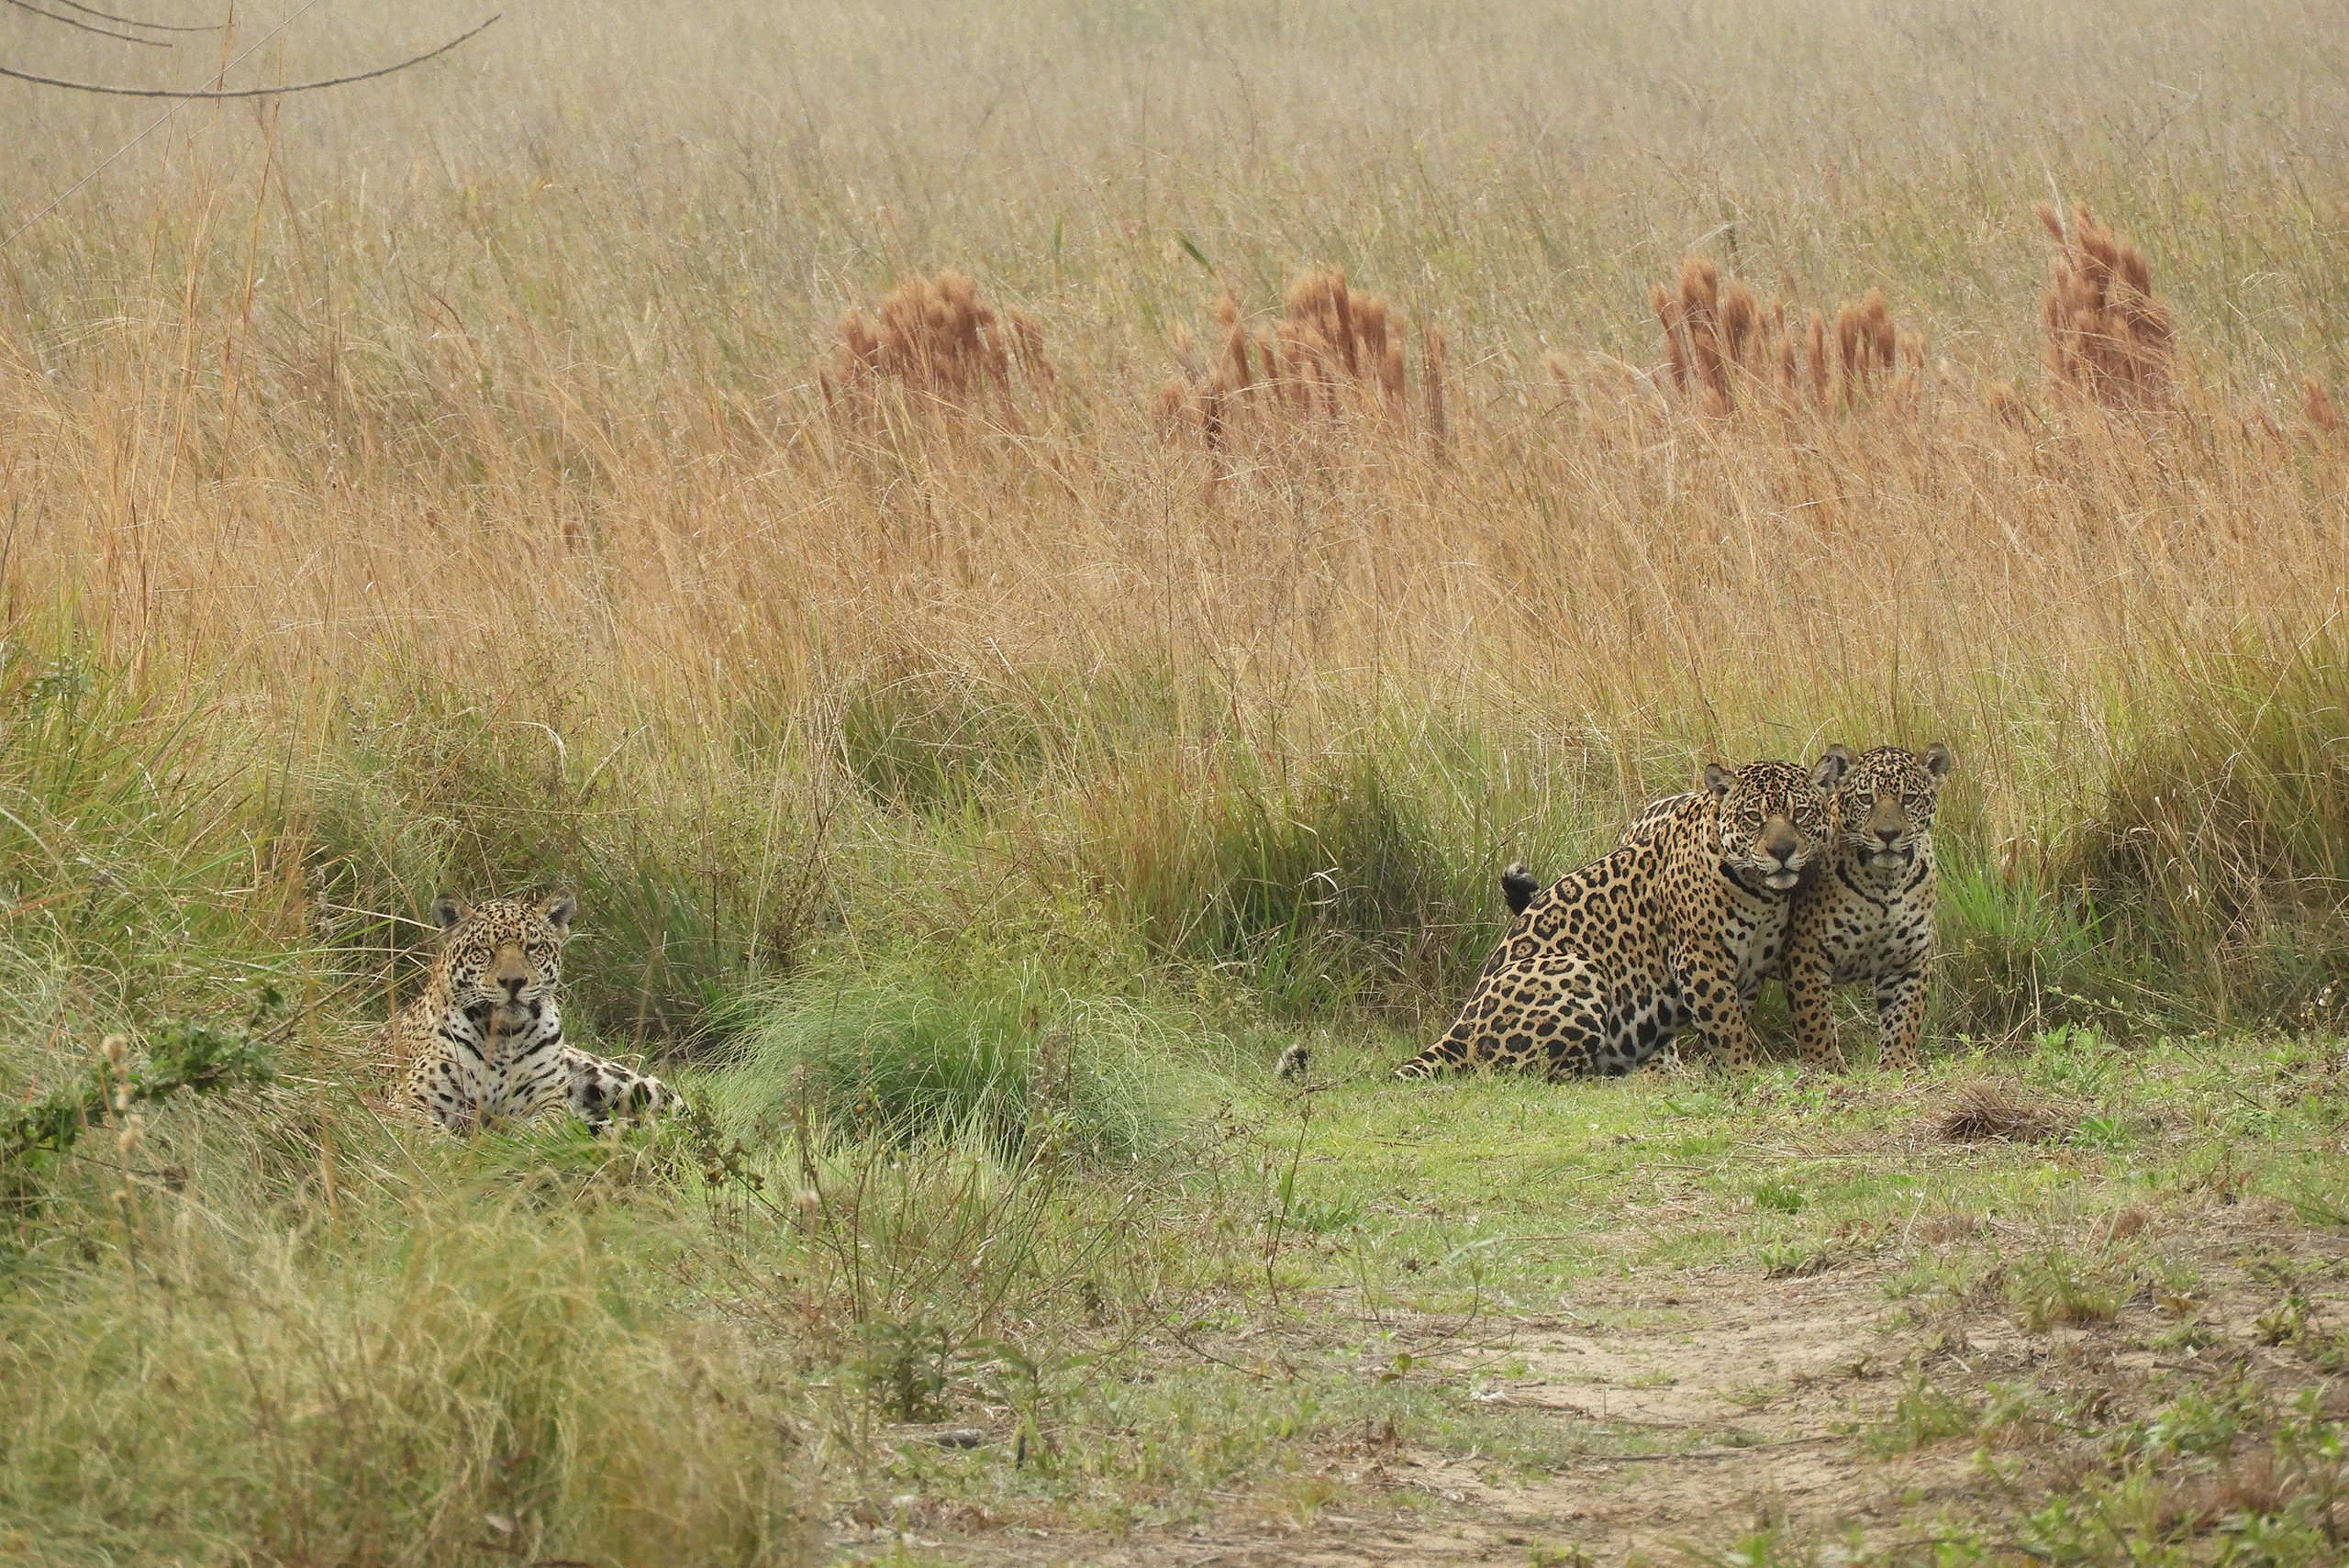
M 1637 840 L 1532 894 L 1459 1021 L 1398 1077 L 1445 1068 L 1630 1073 L 1696 1028 L 1715 1061 L 1752 1061 L 1757 955 L 1776 955 L 1788 894 L 1828 847 L 1844 758 L 1705 768 L 1705 786 L 1644 819 Z M 1525 869 L 1503 880 L 1515 906 Z

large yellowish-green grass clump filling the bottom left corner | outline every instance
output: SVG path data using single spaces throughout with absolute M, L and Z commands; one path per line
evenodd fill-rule
M 806 1561 L 789 1427 L 740 1345 L 653 1305 L 632 1225 L 446 1171 L 355 1197 L 338 1235 L 254 1237 L 141 1195 L 136 1246 L 99 1230 L 0 1296 L 28 1561 Z

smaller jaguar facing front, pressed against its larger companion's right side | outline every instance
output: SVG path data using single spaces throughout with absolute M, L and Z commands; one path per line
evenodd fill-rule
M 1832 986 L 1877 993 L 1877 1063 L 1917 1066 L 1926 965 L 1933 958 L 1933 807 L 1954 758 L 1877 746 L 1835 786 L 1835 847 L 1795 894 L 1785 946 L 1785 1002 L 1804 1061 L 1837 1061 Z

